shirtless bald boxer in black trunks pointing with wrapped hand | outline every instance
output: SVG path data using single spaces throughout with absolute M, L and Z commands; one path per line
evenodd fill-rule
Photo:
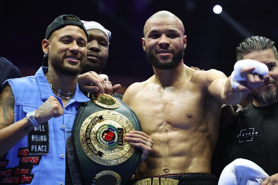
M 146 21 L 144 37 L 142 46 L 154 75 L 129 86 L 123 101 L 136 112 L 154 145 L 138 168 L 137 182 L 131 184 L 217 184 L 210 173 L 221 105 L 241 103 L 251 89 L 261 86 L 261 73 L 252 73 L 261 66 L 246 67 L 242 61 L 232 80 L 214 69 L 191 69 L 183 63 L 184 25 L 167 11 Z M 246 77 L 244 83 L 237 80 L 238 75 Z

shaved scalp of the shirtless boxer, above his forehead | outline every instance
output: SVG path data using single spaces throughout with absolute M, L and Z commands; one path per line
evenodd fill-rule
M 182 34 L 184 35 L 184 25 L 183 25 L 182 21 L 177 16 L 175 16 L 174 14 L 172 14 L 171 12 L 168 12 L 168 11 L 159 11 L 159 12 L 156 12 L 155 14 L 153 14 L 146 21 L 145 26 L 144 26 L 144 37 L 146 36 L 146 32 L 149 29 L 149 27 L 151 25 L 155 24 L 157 19 L 160 19 L 162 17 L 163 18 L 169 18 L 169 20 L 177 23 L 178 26 L 180 27 L 180 29 L 182 30 Z

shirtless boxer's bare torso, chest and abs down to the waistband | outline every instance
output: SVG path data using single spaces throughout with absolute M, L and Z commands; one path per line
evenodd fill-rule
M 221 104 L 205 96 L 200 89 L 190 88 L 163 92 L 147 89 L 136 97 L 144 101 L 132 101 L 131 108 L 138 115 L 143 132 L 153 138 L 154 144 L 135 178 L 211 173 Z

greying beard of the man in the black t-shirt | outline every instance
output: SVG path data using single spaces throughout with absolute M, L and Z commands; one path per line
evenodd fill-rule
M 268 80 L 265 83 L 269 83 L 269 82 L 276 83 L 276 81 L 274 81 L 274 80 Z M 277 101 L 278 90 L 276 89 L 275 91 L 271 91 L 271 87 L 268 87 L 268 88 L 266 88 L 265 94 L 261 94 L 261 92 L 256 93 L 255 90 L 253 90 L 252 97 L 255 101 L 257 101 L 261 105 L 270 105 Z

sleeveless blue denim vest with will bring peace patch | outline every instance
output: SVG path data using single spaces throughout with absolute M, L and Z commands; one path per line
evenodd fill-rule
M 47 67 L 41 67 L 35 76 L 9 79 L 14 95 L 14 121 L 19 121 L 31 110 L 38 109 L 48 97 L 54 96 L 45 73 Z M 63 106 L 60 97 L 56 97 Z M 81 102 L 89 99 L 76 85 L 75 93 L 64 109 L 64 114 L 51 118 L 47 123 L 34 128 L 22 138 L 7 155 L 6 169 L 0 168 L 1 182 L 19 182 L 18 184 L 65 184 L 66 140 L 72 134 L 74 119 Z M 1 157 L 1 156 L 0 156 Z M 0 161 L 1 161 L 0 160 Z M 1 183 L 0 183 L 1 184 Z M 10 183 L 3 183 L 10 184 Z

